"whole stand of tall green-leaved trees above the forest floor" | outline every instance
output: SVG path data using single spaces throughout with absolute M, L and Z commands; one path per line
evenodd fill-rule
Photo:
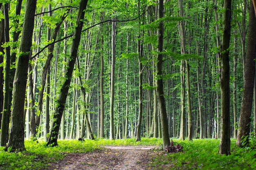
M 0 0 L 0 146 L 256 135 L 255 0 Z M 234 141 L 233 141 L 234 143 Z

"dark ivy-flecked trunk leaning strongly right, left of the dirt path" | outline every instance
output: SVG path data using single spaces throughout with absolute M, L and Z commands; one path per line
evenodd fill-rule
M 88 0 L 81 0 L 79 3 L 79 10 L 78 10 L 78 15 L 76 19 L 76 28 L 74 30 L 74 35 L 73 35 L 73 40 L 72 40 L 72 45 L 70 49 L 70 60 L 67 62 L 67 72 L 65 73 L 65 81 L 63 83 L 63 86 L 61 87 L 61 93 L 59 94 L 58 101 L 57 101 L 57 106 L 56 110 L 54 113 L 53 117 L 53 123 L 52 123 L 52 129 L 49 135 L 49 139 L 47 142 L 47 146 L 57 146 L 57 139 L 58 139 L 58 132 L 61 124 L 61 117 L 63 114 L 63 110 L 65 108 L 65 102 L 67 99 L 67 93 L 70 87 L 70 81 L 72 79 L 72 73 L 73 73 L 73 68 L 74 64 L 76 61 L 76 55 L 79 47 L 79 42 L 81 39 L 81 31 L 83 28 L 83 19 L 85 15 L 85 9 L 87 6 Z

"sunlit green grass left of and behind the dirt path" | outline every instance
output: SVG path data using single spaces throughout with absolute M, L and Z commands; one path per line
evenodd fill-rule
M 90 152 L 102 146 L 124 145 L 160 145 L 161 139 L 142 138 L 140 142 L 135 139 L 106 140 L 97 139 L 81 142 L 78 140 L 58 140 L 58 146 L 47 147 L 43 141 L 25 141 L 25 152 L 5 152 L 0 147 L 0 170 L 36 170 L 45 168 L 49 163 L 56 162 L 69 152 Z

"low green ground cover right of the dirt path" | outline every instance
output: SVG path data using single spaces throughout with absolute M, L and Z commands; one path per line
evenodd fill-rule
M 236 140 L 231 139 L 231 155 L 218 154 L 220 140 L 218 139 L 193 139 L 193 141 L 180 141 L 183 152 L 175 154 L 157 155 L 152 160 L 152 169 L 172 170 L 251 170 L 256 167 L 256 151 L 238 148 Z M 168 165 L 171 164 L 171 167 Z

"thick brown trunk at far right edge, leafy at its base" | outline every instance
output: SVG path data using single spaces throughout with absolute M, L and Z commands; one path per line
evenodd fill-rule
M 245 55 L 244 87 L 241 105 L 241 113 L 238 125 L 236 144 L 239 147 L 249 145 L 250 116 L 252 113 L 252 97 L 255 76 L 255 53 L 256 53 L 256 18 L 252 0 L 249 7 L 248 39 Z M 243 144 L 242 144 L 243 143 Z

